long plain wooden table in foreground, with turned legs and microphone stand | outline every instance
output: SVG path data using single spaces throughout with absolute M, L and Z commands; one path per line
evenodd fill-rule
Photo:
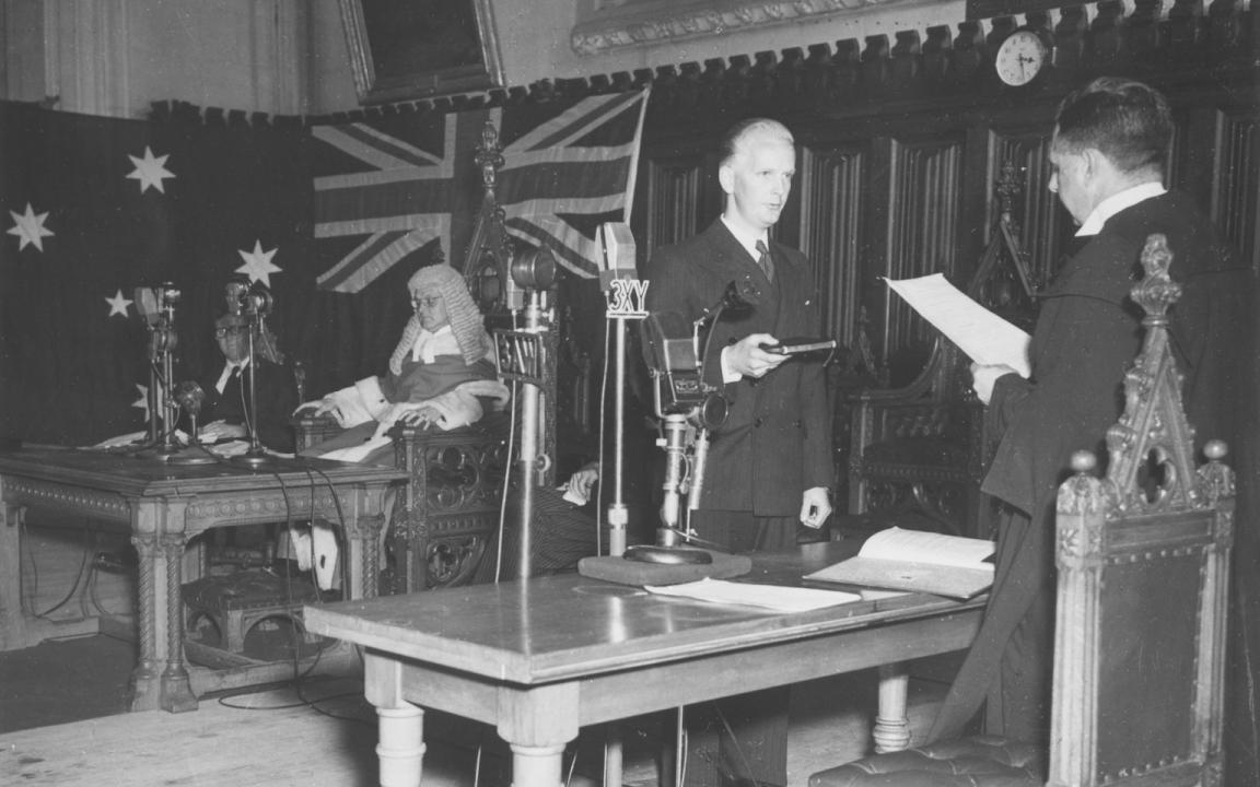
M 743 579 L 801 584 L 852 550 L 811 544 L 759 555 Z M 420 784 L 422 705 L 495 725 L 512 747 L 515 787 L 557 787 L 564 745 L 582 727 L 961 650 L 983 606 L 906 594 L 781 613 L 566 574 L 306 607 L 305 616 L 311 631 L 367 648 L 381 784 Z M 878 716 L 882 747 L 905 748 L 903 670 L 882 670 Z

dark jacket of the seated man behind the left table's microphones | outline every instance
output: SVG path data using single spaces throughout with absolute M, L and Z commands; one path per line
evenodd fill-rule
M 294 382 L 292 369 L 272 364 L 266 359 L 255 359 L 239 375 L 228 378 L 222 394 L 214 388 L 223 371 L 222 366 L 214 371 L 214 377 L 202 379 L 205 402 L 202 404 L 197 423 L 200 426 L 223 419 L 227 423 L 248 426 L 246 418 L 249 402 L 248 382 L 255 368 L 258 375 L 255 392 L 258 400 L 258 442 L 272 451 L 291 453 L 294 429 L 290 418 L 299 404 L 297 385 Z

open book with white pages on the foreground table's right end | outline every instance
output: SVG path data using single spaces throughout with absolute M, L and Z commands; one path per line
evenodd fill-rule
M 971 598 L 993 586 L 993 541 L 888 528 L 866 540 L 857 557 L 805 579 Z

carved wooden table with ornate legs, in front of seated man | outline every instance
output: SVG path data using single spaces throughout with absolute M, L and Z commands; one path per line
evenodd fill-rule
M 48 636 L 88 633 L 98 626 L 96 618 L 59 623 L 24 613 L 24 509 L 45 507 L 121 524 L 130 528 L 140 558 L 140 652 L 131 709 L 193 710 L 197 696 L 184 664 L 180 597 L 188 540 L 224 525 L 311 518 L 341 523 L 349 545 L 349 594 L 375 596 L 384 492 L 406 477 L 388 467 L 305 458 L 277 458 L 251 467 L 229 461 L 170 465 L 126 453 L 48 446 L 0 452 L 0 650 L 29 647 Z

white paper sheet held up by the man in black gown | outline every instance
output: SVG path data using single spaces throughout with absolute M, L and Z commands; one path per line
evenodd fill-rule
M 885 281 L 975 363 L 1003 364 L 1023 378 L 1031 374 L 1028 334 L 976 303 L 942 273 Z

